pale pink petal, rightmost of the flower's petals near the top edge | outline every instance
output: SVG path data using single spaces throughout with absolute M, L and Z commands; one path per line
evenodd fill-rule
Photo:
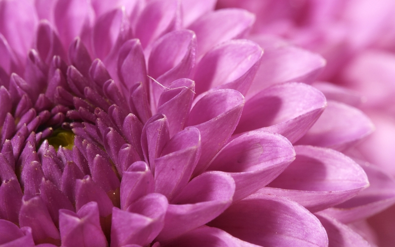
M 197 59 L 219 43 L 243 38 L 254 21 L 252 13 L 241 9 L 221 9 L 201 16 L 188 27 L 197 36 Z

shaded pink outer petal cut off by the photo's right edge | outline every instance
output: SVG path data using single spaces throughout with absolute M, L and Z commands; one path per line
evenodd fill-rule
M 371 164 L 360 163 L 370 186 L 356 197 L 323 212 L 345 224 L 370 217 L 395 203 L 395 179 Z

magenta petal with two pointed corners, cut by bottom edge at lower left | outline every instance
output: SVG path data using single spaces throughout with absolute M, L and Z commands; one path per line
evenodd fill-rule
M 64 247 L 107 247 L 107 240 L 100 227 L 99 209 L 90 202 L 77 213 L 61 209 L 59 228 Z

